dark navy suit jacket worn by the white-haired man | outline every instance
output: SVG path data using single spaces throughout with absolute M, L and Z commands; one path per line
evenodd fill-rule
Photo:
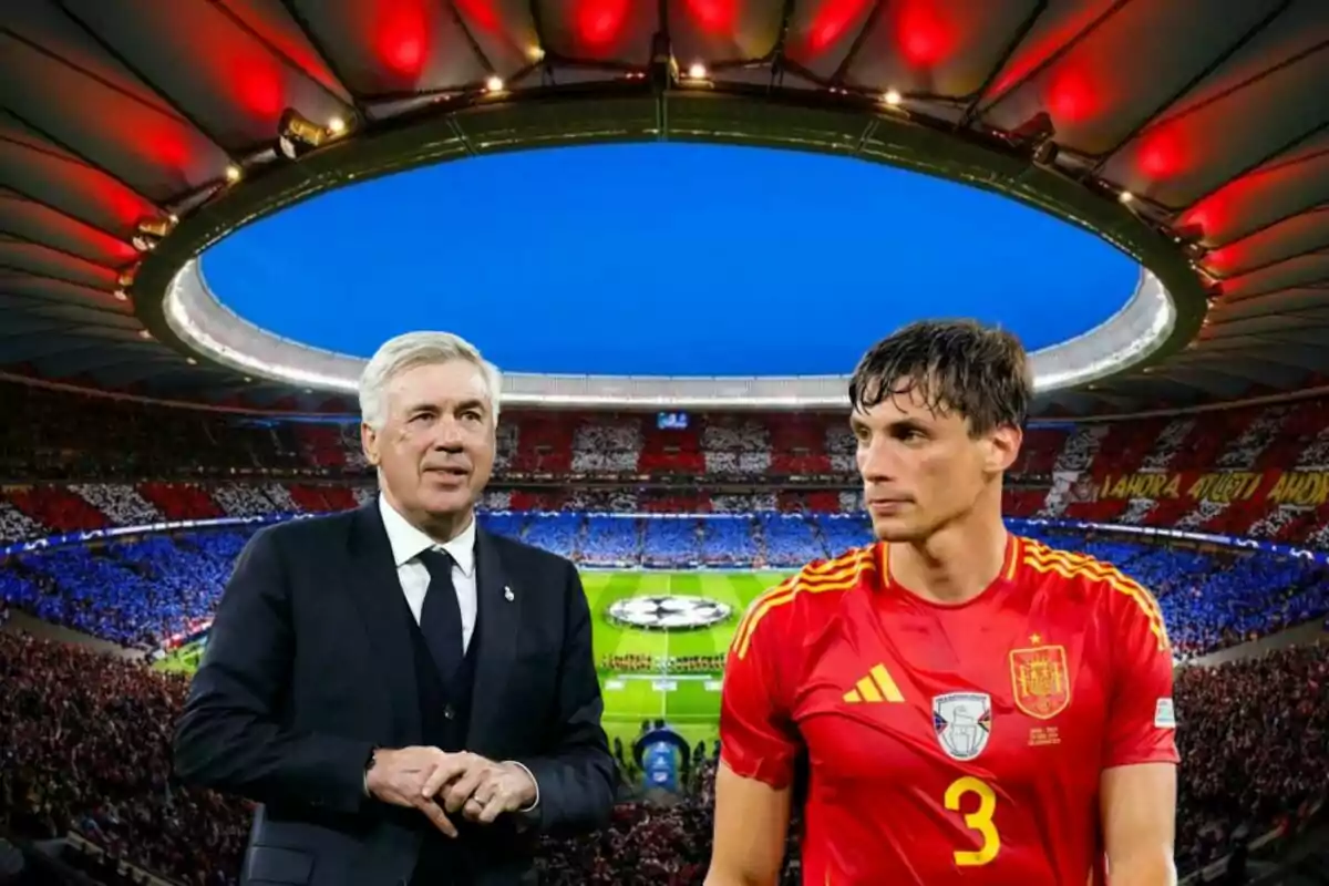
M 534 883 L 538 833 L 607 820 L 590 612 L 573 565 L 478 530 L 466 749 L 525 764 L 540 805 L 462 837 L 477 886 Z M 506 591 L 510 588 L 512 599 Z M 175 735 L 175 769 L 258 801 L 243 886 L 409 882 L 428 824 L 363 793 L 375 747 L 421 744 L 412 644 L 377 503 L 260 530 L 222 596 Z

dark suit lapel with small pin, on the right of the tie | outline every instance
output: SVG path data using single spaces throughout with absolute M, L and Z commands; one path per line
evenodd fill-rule
M 476 604 L 480 612 L 480 647 L 476 650 L 474 703 L 466 747 L 482 747 L 489 712 L 500 708 L 517 652 L 521 626 L 521 588 L 508 583 L 497 543 L 484 529 L 476 530 Z

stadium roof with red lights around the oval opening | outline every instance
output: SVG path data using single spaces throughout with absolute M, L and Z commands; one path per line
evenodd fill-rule
M 957 178 L 1136 256 L 1166 335 L 1042 414 L 1293 391 L 1329 373 L 1325 82 L 1322 0 L 15 0 L 0 367 L 344 408 L 187 344 L 181 268 L 356 178 L 670 138 Z

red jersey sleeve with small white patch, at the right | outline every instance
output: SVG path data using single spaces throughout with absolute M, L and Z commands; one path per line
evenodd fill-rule
M 1158 600 L 1130 579 L 1114 588 L 1111 599 L 1112 685 L 1103 768 L 1177 762 L 1172 647 Z

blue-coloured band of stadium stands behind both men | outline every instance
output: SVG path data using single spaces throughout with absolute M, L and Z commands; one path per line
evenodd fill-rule
M 485 514 L 489 531 L 589 566 L 796 569 L 872 541 L 852 515 Z M 1091 554 L 1159 599 L 1180 655 L 1193 655 L 1329 612 L 1329 573 L 1301 559 L 1211 554 L 1118 539 L 1037 535 Z M 35 551 L 0 567 L 0 598 L 41 619 L 153 648 L 209 618 L 249 531 L 226 530 Z

